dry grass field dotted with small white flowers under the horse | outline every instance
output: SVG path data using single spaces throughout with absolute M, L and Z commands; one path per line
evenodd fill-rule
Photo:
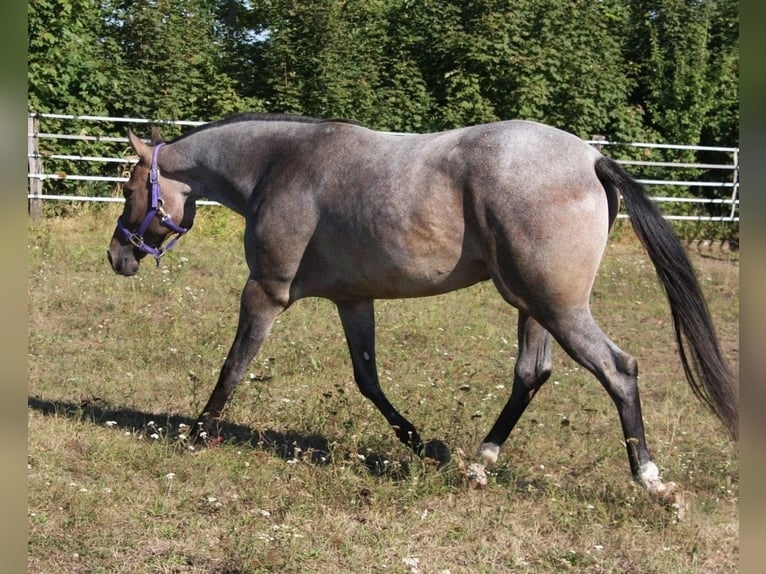
M 632 483 L 614 406 L 554 354 L 554 373 L 484 490 L 461 463 L 510 392 L 515 311 L 491 285 L 377 304 L 391 401 L 453 461 L 413 457 L 357 392 L 331 303 L 298 302 L 190 452 L 234 336 L 242 226 L 202 209 L 155 268 L 118 277 L 116 208 L 30 224 L 29 571 L 736 572 L 736 445 L 683 380 L 651 264 L 620 230 L 592 308 L 639 362 L 647 438 L 689 501 L 683 520 Z M 736 254 L 692 249 L 738 368 Z

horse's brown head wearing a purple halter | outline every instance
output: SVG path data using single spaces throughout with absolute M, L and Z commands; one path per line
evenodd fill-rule
M 152 143 L 141 141 L 132 131 L 128 139 L 138 155 L 125 184 L 125 208 L 109 243 L 107 257 L 112 269 L 121 275 L 135 275 L 141 259 L 152 255 L 157 259 L 170 249 L 194 222 L 195 204 L 189 199 L 189 186 L 163 174 L 163 152 L 159 132 L 152 132 Z M 168 236 L 173 239 L 164 248 Z

